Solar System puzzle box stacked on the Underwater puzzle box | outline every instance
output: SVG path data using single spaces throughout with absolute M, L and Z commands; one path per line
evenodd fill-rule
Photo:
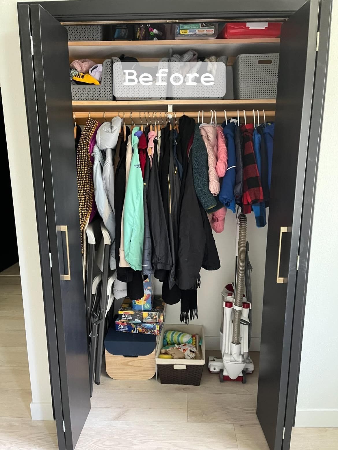
M 161 297 L 155 297 L 153 307 L 149 311 L 133 310 L 131 299 L 126 297 L 118 311 L 118 320 L 126 322 L 163 323 L 165 306 Z

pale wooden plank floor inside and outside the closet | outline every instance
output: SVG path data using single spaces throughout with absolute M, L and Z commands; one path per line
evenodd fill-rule
M 57 450 L 54 422 L 32 421 L 18 265 L 0 274 L 0 450 Z M 215 352 L 212 352 L 215 354 Z M 103 368 L 76 450 L 268 450 L 247 384 L 220 383 L 204 368 L 200 386 L 114 381 Z M 295 428 L 292 450 L 338 448 L 338 428 Z

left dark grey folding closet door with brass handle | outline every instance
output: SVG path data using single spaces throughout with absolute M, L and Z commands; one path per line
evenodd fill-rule
M 52 262 L 54 310 L 65 432 L 74 449 L 90 411 L 77 170 L 66 29 L 31 6 L 36 97 Z M 45 249 L 48 252 L 48 248 Z

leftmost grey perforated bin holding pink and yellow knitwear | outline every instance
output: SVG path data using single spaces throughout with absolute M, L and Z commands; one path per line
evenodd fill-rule
M 72 85 L 72 100 L 113 100 L 111 59 L 103 62 L 99 85 Z

